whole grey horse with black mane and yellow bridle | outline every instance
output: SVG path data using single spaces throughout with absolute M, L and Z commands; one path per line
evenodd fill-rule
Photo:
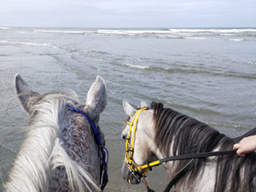
M 141 107 L 147 107 L 146 105 L 142 102 Z M 134 137 L 131 150 L 133 152 L 132 169 L 170 156 L 231 150 L 234 143 L 238 143 L 242 137 L 256 134 L 256 129 L 253 129 L 242 137 L 232 139 L 197 119 L 178 113 L 172 108 L 163 108 L 163 104 L 157 102 L 152 102 L 148 110 L 141 111 L 124 101 L 123 108 L 128 119 L 125 122 L 122 137 L 126 139 L 131 132 L 128 140 L 130 146 L 131 138 Z M 138 114 L 138 111 L 141 113 Z M 135 134 L 133 133 L 135 124 L 129 125 L 134 116 L 138 117 Z M 123 178 L 128 183 L 137 184 L 145 170 L 140 170 L 137 174 L 132 173 L 127 168 L 129 161 L 126 159 L 122 167 Z M 253 192 L 256 189 L 255 162 L 256 154 L 252 152 L 246 157 L 230 154 L 194 160 L 169 161 L 163 163 L 163 166 L 170 180 L 179 172 L 186 170 L 183 177 L 175 183 L 177 191 Z

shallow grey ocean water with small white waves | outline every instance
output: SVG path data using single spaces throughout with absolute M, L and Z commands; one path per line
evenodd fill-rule
M 163 102 L 229 137 L 256 126 L 256 29 L 88 29 L 0 27 L 0 184 L 25 138 L 27 116 L 15 97 L 15 73 L 40 93 L 73 90 L 84 102 L 101 75 L 108 107 L 100 126 L 110 153 L 106 191 L 145 191 L 121 177 L 126 119 L 122 102 Z M 8 110 L 7 110 L 8 109 Z M 148 185 L 165 189 L 162 167 Z M 3 189 L 2 189 L 3 190 Z

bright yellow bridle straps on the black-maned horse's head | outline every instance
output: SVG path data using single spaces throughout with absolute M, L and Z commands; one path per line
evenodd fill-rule
M 143 112 L 143 110 L 147 110 L 148 108 L 141 108 L 135 113 L 133 116 L 131 123 L 127 121 L 127 124 L 130 125 L 130 129 L 128 132 L 128 136 L 126 137 L 126 143 L 125 143 L 125 148 L 126 148 L 126 154 L 125 154 L 125 160 L 128 165 L 128 168 L 131 170 L 131 172 L 138 172 L 139 170 L 145 169 L 146 171 L 143 172 L 143 177 L 145 174 L 148 172 L 149 167 L 151 166 L 159 166 L 161 165 L 160 160 L 156 160 L 154 162 L 148 163 L 144 166 L 137 166 L 136 163 L 133 160 L 133 145 L 134 145 L 134 137 L 135 137 L 135 132 L 137 129 L 137 119 L 140 113 Z M 133 128 L 133 134 L 131 137 L 131 128 Z M 131 137 L 131 144 L 130 144 L 130 137 Z

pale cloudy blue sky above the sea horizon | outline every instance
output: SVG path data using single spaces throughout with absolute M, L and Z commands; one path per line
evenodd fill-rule
M 0 26 L 256 27 L 256 1 L 0 0 Z

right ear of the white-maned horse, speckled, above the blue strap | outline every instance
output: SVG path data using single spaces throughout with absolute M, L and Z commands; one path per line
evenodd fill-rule
M 99 115 L 106 108 L 107 102 L 107 86 L 104 79 L 98 75 L 88 91 L 86 106 L 94 115 Z

